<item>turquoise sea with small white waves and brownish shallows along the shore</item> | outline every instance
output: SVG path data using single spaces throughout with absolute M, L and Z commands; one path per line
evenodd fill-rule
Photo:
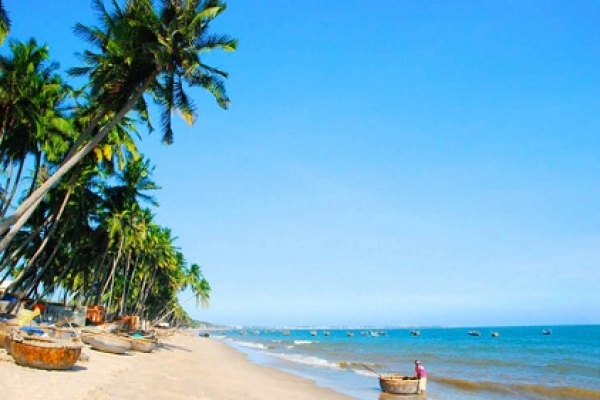
M 547 329 L 552 333 L 542 334 Z M 428 371 L 428 399 L 600 399 L 600 325 L 421 328 L 419 336 L 410 329 L 371 331 L 383 333 L 247 329 L 213 337 L 255 363 L 363 400 L 390 399 L 363 364 L 412 375 L 415 359 Z

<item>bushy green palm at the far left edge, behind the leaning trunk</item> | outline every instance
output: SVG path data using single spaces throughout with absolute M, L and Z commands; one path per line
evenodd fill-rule
M 47 63 L 48 47 L 30 39 L 27 43 L 12 42 L 10 49 L 10 56 L 0 56 L 0 162 L 4 170 L 14 167 L 16 172 L 14 176 L 7 174 L 0 218 L 21 183 L 27 158 L 34 158 L 34 182 L 43 150 L 51 158 L 50 151 L 60 153 L 64 148 L 64 155 L 67 147 L 59 141 L 65 143 L 71 131 L 60 109 L 69 88 L 55 74 L 57 66 Z

